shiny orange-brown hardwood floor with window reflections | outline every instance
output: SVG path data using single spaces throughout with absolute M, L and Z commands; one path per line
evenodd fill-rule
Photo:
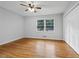
M 0 46 L 1 58 L 77 58 L 75 51 L 64 41 L 20 39 Z

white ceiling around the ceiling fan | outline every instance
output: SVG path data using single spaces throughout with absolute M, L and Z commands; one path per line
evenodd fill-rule
M 13 11 L 22 16 L 36 16 L 36 15 L 63 13 L 71 2 L 70 1 L 35 1 L 37 5 L 42 7 L 42 9 L 38 10 L 37 13 L 33 13 L 30 11 L 25 12 L 26 8 L 19 5 L 20 3 L 24 3 L 24 2 L 1 1 L 0 7 Z

